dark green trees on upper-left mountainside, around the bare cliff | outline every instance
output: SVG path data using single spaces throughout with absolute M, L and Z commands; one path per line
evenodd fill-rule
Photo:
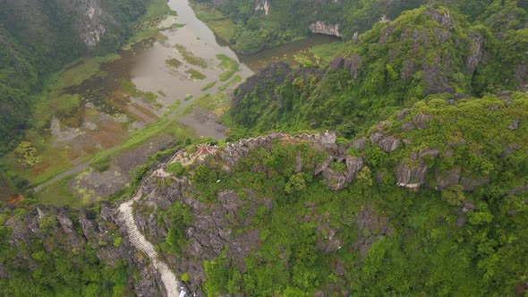
M 134 22 L 147 12 L 148 4 L 147 0 L 106 1 L 101 9 L 114 21 L 112 26 L 107 21 L 104 23 L 106 34 L 93 51 L 97 55 L 114 53 L 132 36 Z M 9 1 L 0 13 L 0 107 L 3 111 L 0 155 L 16 146 L 21 132 L 30 127 L 28 120 L 33 106 L 46 100 L 46 96 L 37 96 L 43 89 L 43 81 L 65 64 L 89 54 L 75 25 L 78 14 L 85 12 L 69 10 L 57 1 L 36 5 L 34 10 L 21 11 L 15 2 Z M 57 89 L 78 84 L 81 78 L 95 74 L 100 62 L 100 59 L 89 59 L 84 66 L 88 71 L 78 68 L 78 73 L 64 75 L 64 81 L 57 81 Z

